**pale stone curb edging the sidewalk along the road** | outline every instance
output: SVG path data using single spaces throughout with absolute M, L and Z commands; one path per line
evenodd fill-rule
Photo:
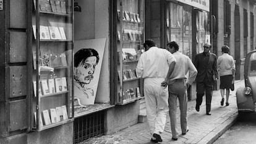
M 215 142 L 224 132 L 226 132 L 236 121 L 238 112 L 232 114 L 223 124 L 216 127 L 213 131 L 208 133 L 207 136 L 203 137 L 198 144 L 211 144 Z

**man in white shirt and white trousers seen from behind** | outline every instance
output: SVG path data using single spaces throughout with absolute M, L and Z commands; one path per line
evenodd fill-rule
M 161 133 L 166 124 L 168 88 L 161 87 L 168 70 L 172 73 L 176 59 L 166 49 L 156 47 L 153 40 L 143 44 L 145 52 L 137 64 L 137 73 L 144 79 L 144 95 L 151 142 L 163 142 Z

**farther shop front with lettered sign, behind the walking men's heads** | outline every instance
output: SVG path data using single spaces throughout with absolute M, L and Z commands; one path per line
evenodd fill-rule
M 179 51 L 194 59 L 203 44 L 211 43 L 209 0 L 166 0 L 145 3 L 145 39 L 155 40 L 160 48 L 169 41 L 179 44 Z M 150 12 L 150 15 L 147 15 Z M 189 100 L 195 99 L 195 83 L 189 88 Z

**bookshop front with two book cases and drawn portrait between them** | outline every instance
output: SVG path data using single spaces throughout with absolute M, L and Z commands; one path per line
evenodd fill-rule
M 145 1 L 0 2 L 0 143 L 80 143 L 138 122 Z

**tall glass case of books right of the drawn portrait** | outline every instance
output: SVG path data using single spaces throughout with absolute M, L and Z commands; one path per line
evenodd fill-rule
M 119 82 L 116 104 L 132 103 L 143 96 L 142 77 L 136 72 L 143 53 L 143 1 L 117 1 L 117 66 Z

